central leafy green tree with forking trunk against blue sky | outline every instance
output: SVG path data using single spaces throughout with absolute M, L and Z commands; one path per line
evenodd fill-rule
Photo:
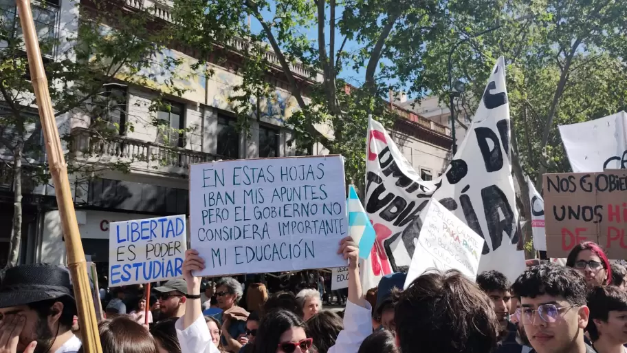
M 389 124 L 395 119 L 386 109 L 389 89 L 408 87 L 412 96 L 427 92 L 425 44 L 448 36 L 451 13 L 480 25 L 499 8 L 499 1 L 475 0 L 177 0 L 174 18 L 181 26 L 180 40 L 202 56 L 242 54 L 244 82 L 235 89 L 241 95 L 232 98 L 241 107 L 241 126 L 254 113 L 254 102 L 271 93 L 264 81 L 267 72 L 278 69 L 300 108 L 287 122 L 294 129 L 290 143 L 319 142 L 329 153 L 341 153 L 347 158 L 347 180 L 359 187 L 369 114 Z M 261 30 L 253 30 L 248 17 Z M 246 46 L 232 44 L 241 43 L 235 38 L 246 39 Z M 267 50 L 278 63 L 268 61 Z M 297 61 L 309 69 L 307 82 L 294 72 Z M 363 85 L 348 92 L 342 73 L 362 67 Z M 316 129 L 322 124 L 332 128 L 332 138 Z

